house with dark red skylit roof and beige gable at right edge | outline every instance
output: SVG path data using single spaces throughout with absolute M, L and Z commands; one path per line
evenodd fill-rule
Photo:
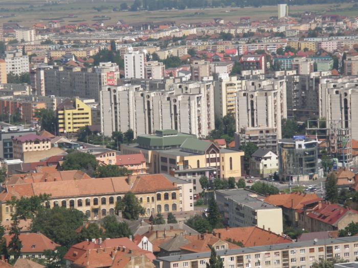
M 358 222 L 358 211 L 329 202 L 319 202 L 313 209 L 297 212 L 298 227 L 308 232 L 341 230 L 351 222 Z

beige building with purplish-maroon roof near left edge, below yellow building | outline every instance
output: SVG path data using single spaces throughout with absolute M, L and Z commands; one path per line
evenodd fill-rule
M 19 136 L 13 139 L 14 159 L 22 159 L 25 152 L 48 151 L 51 149 L 51 140 L 35 134 Z

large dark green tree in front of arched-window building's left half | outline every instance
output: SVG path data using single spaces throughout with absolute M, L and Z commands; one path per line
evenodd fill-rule
M 70 247 L 77 242 L 76 229 L 82 226 L 85 216 L 77 209 L 54 206 L 38 211 L 32 221 L 32 232 L 40 232 L 61 246 Z

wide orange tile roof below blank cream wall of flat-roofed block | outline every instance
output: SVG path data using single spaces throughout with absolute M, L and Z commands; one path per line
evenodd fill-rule
M 275 234 L 270 228 L 265 230 L 256 226 L 214 229 L 213 234 L 221 240 L 230 241 L 245 248 L 292 242 L 289 237 Z

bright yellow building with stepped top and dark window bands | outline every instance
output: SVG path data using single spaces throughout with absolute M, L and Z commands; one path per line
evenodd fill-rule
M 91 107 L 79 99 L 68 99 L 57 106 L 57 117 L 59 133 L 74 133 L 81 127 L 91 125 Z

